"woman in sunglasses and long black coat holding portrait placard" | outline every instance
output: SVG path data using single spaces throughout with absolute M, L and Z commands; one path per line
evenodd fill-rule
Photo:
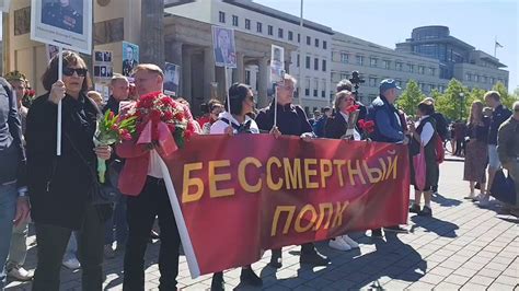
M 79 231 L 78 257 L 82 290 L 102 289 L 104 221 L 108 205 L 91 202 L 96 158 L 109 159 L 109 147 L 92 141 L 99 109 L 89 100 L 86 65 L 72 51 L 64 51 L 62 80 L 58 56 L 42 77 L 47 93 L 39 96 L 27 116 L 28 189 L 36 226 L 38 263 L 33 290 L 59 290 L 61 258 L 72 231 Z M 56 155 L 57 104 L 61 101 L 61 155 Z

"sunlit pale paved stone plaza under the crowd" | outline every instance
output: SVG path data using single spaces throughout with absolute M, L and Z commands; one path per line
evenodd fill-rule
M 284 265 L 277 272 L 267 266 L 270 253 L 253 265 L 267 290 L 519 290 L 519 220 L 500 214 L 493 205 L 480 209 L 464 200 L 468 184 L 462 182 L 463 163 L 441 165 L 440 195 L 434 198 L 434 218 L 410 216 L 410 234 L 387 234 L 385 241 L 364 233 L 350 235 L 360 249 L 338 252 L 318 244 L 331 257 L 327 267 L 299 265 L 299 247 L 284 248 Z M 34 231 L 32 231 L 34 233 Z M 216 240 L 217 237 L 215 237 Z M 36 265 L 34 235 L 26 268 Z M 158 290 L 157 265 L 160 242 L 149 245 L 146 257 L 146 289 Z M 224 256 L 222 252 L 222 256 Z M 123 286 L 123 255 L 104 265 L 106 290 Z M 240 269 L 224 273 L 229 290 L 240 289 Z M 61 290 L 80 290 L 81 272 L 61 271 Z M 178 287 L 209 289 L 211 277 L 192 279 L 185 257 L 181 257 Z M 7 290 L 30 290 L 31 283 L 11 282 Z

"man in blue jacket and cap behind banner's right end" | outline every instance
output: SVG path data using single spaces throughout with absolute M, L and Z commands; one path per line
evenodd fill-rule
M 392 79 L 380 82 L 380 95 L 373 100 L 369 108 L 369 118 L 374 119 L 374 132 L 371 140 L 379 142 L 407 144 L 408 138 L 405 136 L 404 120 L 399 115 L 399 110 L 393 103 L 399 97 L 400 86 Z M 385 231 L 402 232 L 407 231 L 399 225 L 384 228 Z M 373 237 L 382 237 L 382 230 L 372 230 Z

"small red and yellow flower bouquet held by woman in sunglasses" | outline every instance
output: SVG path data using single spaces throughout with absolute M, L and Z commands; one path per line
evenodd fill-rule
M 135 132 L 136 117 L 119 118 L 113 112 L 107 110 L 97 119 L 97 128 L 94 133 L 95 146 L 112 146 L 123 140 L 130 140 Z M 101 183 L 105 182 L 106 163 L 97 158 L 97 175 Z

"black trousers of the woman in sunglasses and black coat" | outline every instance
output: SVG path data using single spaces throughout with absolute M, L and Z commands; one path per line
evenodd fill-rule
M 81 286 L 84 291 L 103 288 L 104 220 L 93 206 L 86 214 L 78 236 L 78 259 L 81 263 Z M 34 291 L 58 291 L 59 272 L 65 249 L 72 230 L 36 222 L 37 266 Z

